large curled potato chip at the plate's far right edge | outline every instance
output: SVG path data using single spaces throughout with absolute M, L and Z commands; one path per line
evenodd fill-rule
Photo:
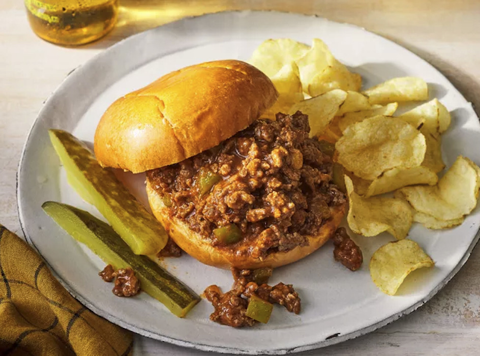
M 478 166 L 459 156 L 434 187 L 413 186 L 399 190 L 413 209 L 438 220 L 460 219 L 476 206 L 480 190 Z

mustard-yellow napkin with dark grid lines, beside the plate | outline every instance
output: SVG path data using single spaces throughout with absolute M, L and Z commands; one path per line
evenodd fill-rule
M 113 296 L 112 296 L 113 298 Z M 130 332 L 95 315 L 0 225 L 0 354 L 129 355 Z

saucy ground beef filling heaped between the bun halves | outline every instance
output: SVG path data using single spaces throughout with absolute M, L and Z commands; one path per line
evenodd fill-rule
M 308 245 L 345 196 L 332 184 L 332 159 L 309 138 L 308 116 L 258 120 L 214 149 L 147 172 L 170 214 L 212 245 L 265 257 Z M 225 240 L 231 226 L 240 239 Z M 245 241 L 248 244 L 245 244 Z

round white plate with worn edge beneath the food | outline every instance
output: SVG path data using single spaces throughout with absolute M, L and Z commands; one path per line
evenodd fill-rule
M 46 200 L 67 202 L 99 216 L 68 186 L 47 135 L 50 128 L 73 132 L 92 142 L 103 111 L 118 97 L 172 70 L 209 60 L 248 60 L 268 38 L 289 37 L 310 43 L 323 39 L 340 61 L 360 73 L 364 86 L 398 76 L 424 78 L 431 97 L 452 111 L 443 136 L 443 157 L 450 166 L 458 155 L 480 162 L 480 125 L 471 105 L 435 68 L 397 44 L 362 28 L 322 18 L 275 12 L 226 12 L 188 18 L 152 29 L 107 49 L 75 70 L 42 108 L 25 143 L 18 172 L 18 206 L 27 240 L 46 259 L 64 286 L 99 315 L 141 335 L 203 350 L 232 353 L 289 353 L 322 347 L 373 331 L 430 299 L 468 258 L 478 240 L 480 212 L 454 229 L 434 231 L 415 224 L 409 238 L 435 260 L 435 268 L 413 273 L 397 296 L 372 283 L 368 261 L 389 235 L 357 237 L 364 265 L 352 273 L 333 259 L 327 244 L 311 256 L 274 272 L 272 283 L 293 283 L 302 296 L 302 313 L 276 308 L 267 325 L 236 330 L 208 320 L 212 306 L 202 301 L 185 319 L 141 293 L 116 298 L 97 273 L 104 264 L 77 244 L 42 209 Z M 213 283 L 229 289 L 228 271 L 189 256 L 166 267 L 196 292 Z

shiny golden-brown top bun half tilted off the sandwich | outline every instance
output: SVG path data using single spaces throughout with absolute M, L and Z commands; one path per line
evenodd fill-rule
M 245 62 L 186 67 L 116 100 L 98 124 L 95 155 L 104 167 L 134 173 L 177 163 L 245 129 L 277 97 Z

